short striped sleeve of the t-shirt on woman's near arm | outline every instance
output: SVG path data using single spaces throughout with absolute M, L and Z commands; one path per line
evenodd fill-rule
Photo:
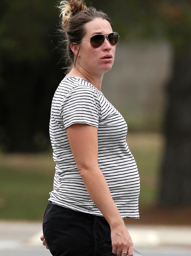
M 86 123 L 98 128 L 100 101 L 94 90 L 88 86 L 76 86 L 64 97 L 60 115 L 64 127 L 74 123 Z

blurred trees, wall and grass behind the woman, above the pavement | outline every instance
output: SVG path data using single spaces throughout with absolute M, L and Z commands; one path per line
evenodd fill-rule
M 51 100 L 67 66 L 57 3 L 1 0 L 1 220 L 41 221 L 52 190 Z M 120 35 L 102 92 L 128 124 L 140 173 L 140 219 L 128 222 L 190 226 L 190 1 L 91 3 Z

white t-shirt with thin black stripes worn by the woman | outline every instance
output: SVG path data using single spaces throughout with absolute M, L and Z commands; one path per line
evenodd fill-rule
M 50 200 L 76 211 L 103 216 L 91 200 L 78 171 L 66 128 L 86 123 L 98 128 L 98 166 L 122 218 L 139 218 L 140 178 L 126 142 L 127 123 L 93 84 L 66 76 L 53 96 L 50 138 L 56 162 Z

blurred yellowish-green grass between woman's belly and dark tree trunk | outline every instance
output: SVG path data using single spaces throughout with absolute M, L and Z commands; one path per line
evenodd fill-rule
M 162 161 L 163 138 L 160 134 L 130 134 L 127 143 L 140 175 L 140 207 L 153 206 L 158 198 L 158 180 Z

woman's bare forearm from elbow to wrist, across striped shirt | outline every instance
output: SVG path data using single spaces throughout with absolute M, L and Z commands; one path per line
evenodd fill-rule
M 92 201 L 108 221 L 110 226 L 124 224 L 123 219 L 110 194 L 109 187 L 99 167 L 80 171 L 83 182 Z

